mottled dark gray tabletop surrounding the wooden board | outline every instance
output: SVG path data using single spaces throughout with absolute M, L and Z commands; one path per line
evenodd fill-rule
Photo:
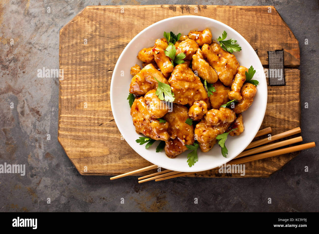
M 59 67 L 60 29 L 85 6 L 99 4 L 275 6 L 300 42 L 302 137 L 318 139 L 318 1 L 1 0 L 0 163 L 26 164 L 26 175 L 0 174 L 0 211 L 319 211 L 318 147 L 301 152 L 270 178 L 176 178 L 139 185 L 137 177 L 81 176 L 57 141 L 58 80 L 37 78 L 37 69 Z

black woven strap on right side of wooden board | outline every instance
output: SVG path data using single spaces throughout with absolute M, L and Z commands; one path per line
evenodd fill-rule
M 269 85 L 286 85 L 284 75 L 284 50 L 268 51 Z

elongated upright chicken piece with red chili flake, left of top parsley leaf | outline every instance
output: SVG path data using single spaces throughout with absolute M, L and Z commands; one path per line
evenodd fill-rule
M 165 77 L 170 76 L 174 69 L 171 60 L 169 60 L 169 57 L 166 56 L 164 52 L 167 46 L 167 40 L 162 38 L 156 39 L 155 46 L 153 47 L 154 60 Z

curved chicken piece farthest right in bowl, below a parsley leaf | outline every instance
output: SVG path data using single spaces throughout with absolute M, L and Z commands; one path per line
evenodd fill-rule
M 255 85 L 251 83 L 245 83 L 244 86 L 241 88 L 241 96 L 242 99 L 239 103 L 235 104 L 235 108 L 233 111 L 236 114 L 240 114 L 251 106 L 254 101 L 254 97 L 256 95 L 257 88 Z

